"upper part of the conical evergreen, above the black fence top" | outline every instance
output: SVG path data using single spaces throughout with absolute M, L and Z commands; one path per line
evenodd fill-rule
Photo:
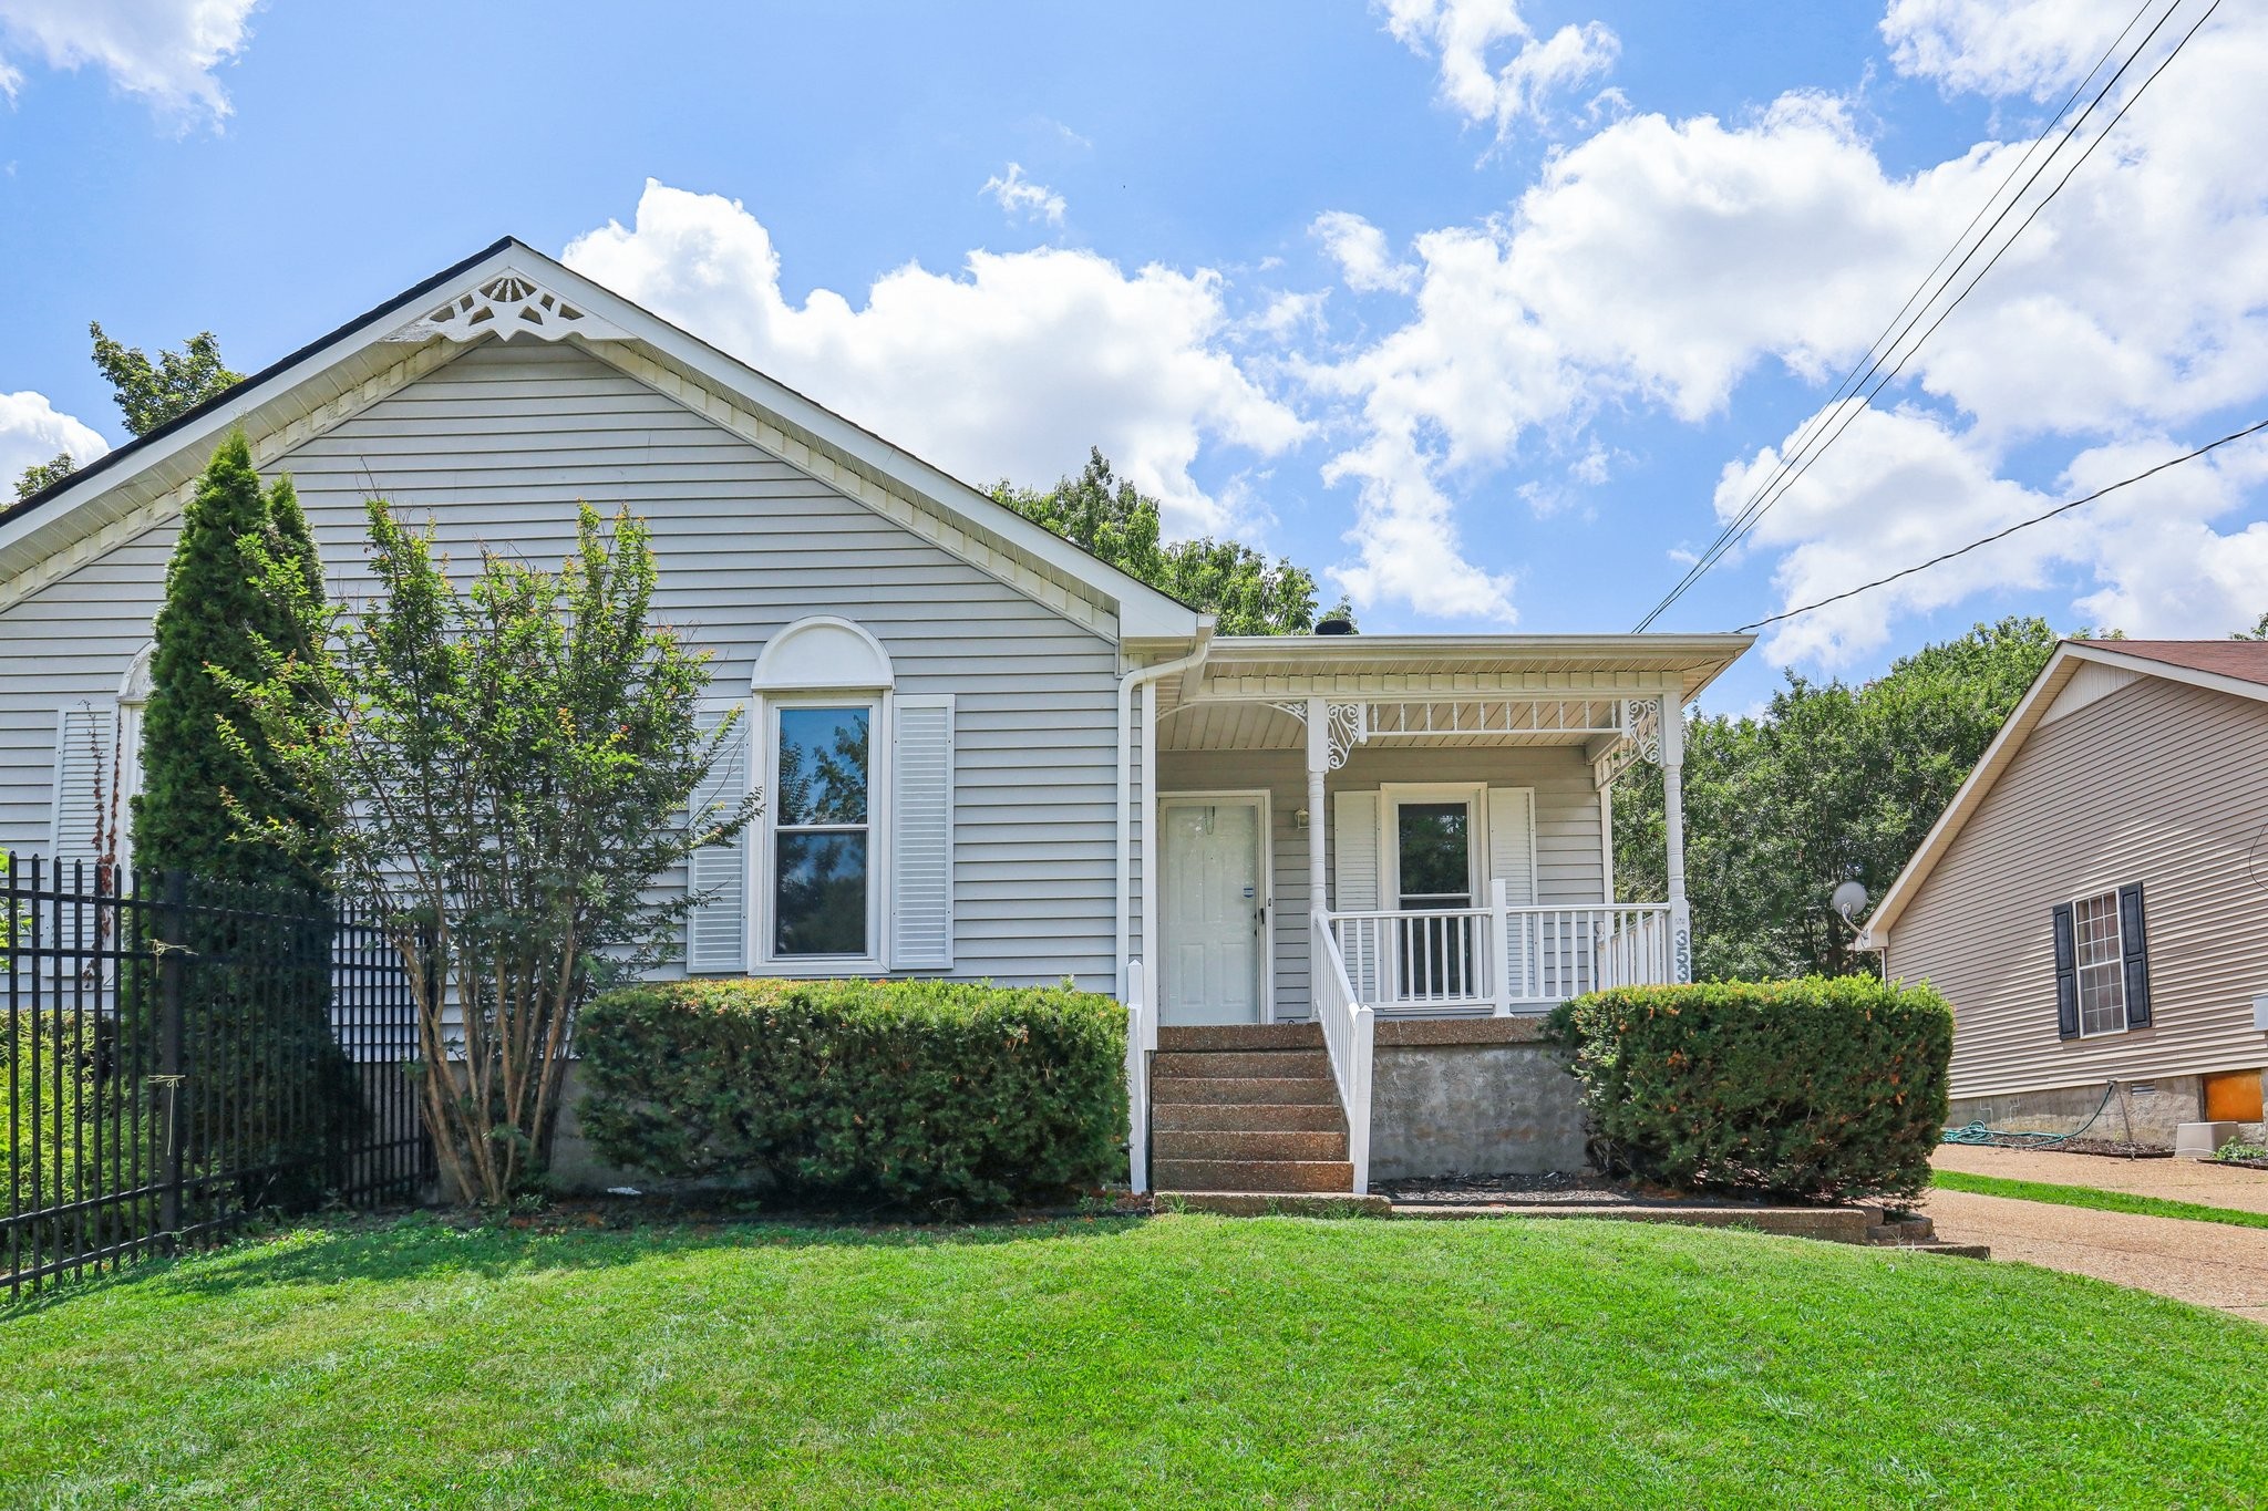
M 324 843 L 263 838 L 268 818 L 315 838 L 322 813 L 290 791 L 256 729 L 229 734 L 238 702 L 222 682 L 259 677 L 274 646 L 311 643 L 320 623 L 308 614 L 320 600 L 322 557 L 290 478 L 261 492 L 252 446 L 231 433 L 197 478 L 166 566 L 143 711 L 143 791 L 132 813 L 143 874 L 179 870 L 295 893 L 327 883 Z M 245 809 L 259 820 L 249 831 Z

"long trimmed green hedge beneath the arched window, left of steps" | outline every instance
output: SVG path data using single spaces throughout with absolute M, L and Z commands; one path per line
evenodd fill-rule
M 678 981 L 576 1028 L 615 1164 L 805 1196 L 1005 1205 L 1125 1176 L 1125 1008 L 1066 988 Z

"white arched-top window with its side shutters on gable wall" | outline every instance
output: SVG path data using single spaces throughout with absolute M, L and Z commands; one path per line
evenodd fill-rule
M 953 698 L 900 693 L 882 643 L 832 614 L 773 634 L 748 691 L 712 797 L 753 782 L 762 818 L 746 847 L 694 856 L 687 970 L 950 965 Z

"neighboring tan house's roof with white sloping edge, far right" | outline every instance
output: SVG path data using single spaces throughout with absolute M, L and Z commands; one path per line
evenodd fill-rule
M 1889 931 L 1898 922 L 1898 915 L 1914 902 L 1921 893 L 1923 881 L 1937 870 L 1937 863 L 1953 847 L 1953 840 L 1969 825 L 1975 811 L 1984 804 L 1987 793 L 1991 793 L 1994 782 L 2014 763 L 2016 752 L 2023 750 L 2025 739 L 2032 729 L 2043 725 L 2055 709 L 2057 698 L 2071 686 L 2089 666 L 2102 666 L 2114 673 L 2130 673 L 2143 677 L 2161 677 L 2168 682 L 2186 682 L 2191 686 L 2204 686 L 2216 693 L 2234 693 L 2239 698 L 2257 698 L 2268 702 L 2268 641 L 2064 641 L 2048 657 L 2048 664 L 2025 689 L 2023 700 L 2000 725 L 2000 734 L 1994 736 L 1991 745 L 1978 759 L 1975 770 L 1962 782 L 1962 788 L 1953 793 L 1953 802 L 1946 811 L 1937 816 L 1930 834 L 1914 850 L 1914 856 L 1898 872 L 1898 879 L 1889 883 L 1882 893 L 1882 902 L 1876 904 L 1873 913 L 1867 917 L 1867 929 L 1860 936 L 1860 949 L 1880 949 L 1889 942 Z

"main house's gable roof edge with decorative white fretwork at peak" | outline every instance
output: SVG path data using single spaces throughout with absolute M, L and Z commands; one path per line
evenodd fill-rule
M 1050 607 L 1100 605 L 1123 641 L 1198 632 L 1195 609 L 510 236 L 0 512 L 0 607 L 177 512 L 229 428 L 265 464 L 492 331 L 576 340 Z

